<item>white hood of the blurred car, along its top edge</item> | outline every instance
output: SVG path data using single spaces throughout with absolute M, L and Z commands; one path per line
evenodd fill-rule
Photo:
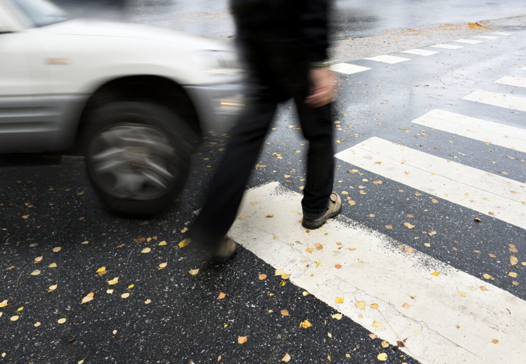
M 46 26 L 45 28 L 45 31 L 54 34 L 123 37 L 177 43 L 180 46 L 186 47 L 188 50 L 232 50 L 232 47 L 224 43 L 189 36 L 169 29 L 140 24 L 70 19 L 65 22 Z

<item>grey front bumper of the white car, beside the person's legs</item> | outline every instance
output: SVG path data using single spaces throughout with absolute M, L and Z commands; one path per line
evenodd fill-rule
M 183 87 L 194 103 L 203 131 L 214 129 L 228 120 L 228 115 L 238 115 L 245 107 L 242 82 Z

